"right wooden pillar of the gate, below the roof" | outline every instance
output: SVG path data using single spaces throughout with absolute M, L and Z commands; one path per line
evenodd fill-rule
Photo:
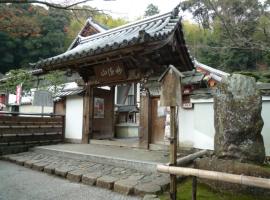
M 151 102 L 148 92 L 141 94 L 140 99 L 140 129 L 139 129 L 139 138 L 140 138 L 140 147 L 148 149 L 150 142 L 150 129 L 151 124 Z

